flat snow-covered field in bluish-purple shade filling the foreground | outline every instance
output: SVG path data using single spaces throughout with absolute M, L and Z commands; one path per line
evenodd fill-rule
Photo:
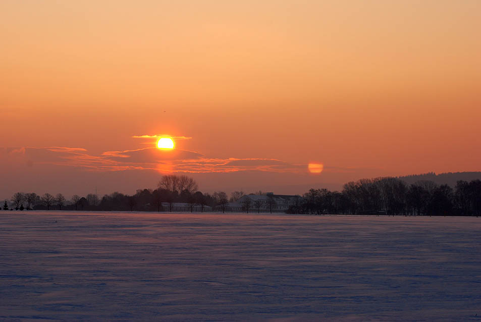
M 0 321 L 76 320 L 481 321 L 481 218 L 0 211 Z

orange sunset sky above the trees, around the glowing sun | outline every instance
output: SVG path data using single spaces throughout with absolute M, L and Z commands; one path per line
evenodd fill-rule
M 3 0 L 0 20 L 0 197 L 481 171 L 477 0 Z M 133 138 L 156 134 L 190 139 Z

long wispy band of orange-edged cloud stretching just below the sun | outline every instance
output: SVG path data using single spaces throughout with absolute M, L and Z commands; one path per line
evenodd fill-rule
M 273 158 L 208 158 L 195 152 L 174 149 L 141 148 L 124 151 L 105 151 L 100 155 L 83 148 L 23 147 L 4 149 L 30 165 L 55 165 L 81 168 L 94 172 L 125 170 L 156 170 L 159 172 L 230 173 L 261 171 L 303 173 L 306 165 L 295 165 Z

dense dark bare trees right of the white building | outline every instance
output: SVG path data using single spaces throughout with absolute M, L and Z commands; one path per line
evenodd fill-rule
M 416 216 L 481 216 L 481 181 L 460 180 L 456 186 L 399 178 L 361 179 L 342 191 L 310 189 L 289 213 L 389 214 Z

